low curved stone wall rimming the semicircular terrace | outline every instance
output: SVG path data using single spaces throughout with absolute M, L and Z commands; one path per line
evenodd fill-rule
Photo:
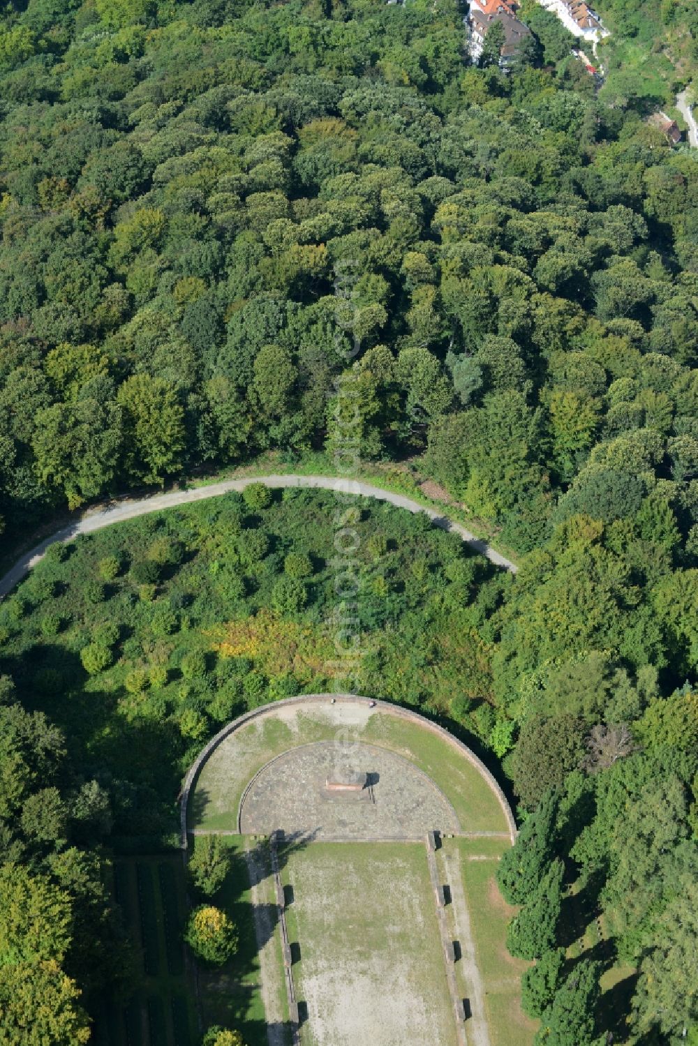
M 189 772 L 187 773 L 184 779 L 184 786 L 182 788 L 180 826 L 181 826 L 181 845 L 184 851 L 186 851 L 187 849 L 186 811 L 187 811 L 189 794 L 196 783 L 201 768 L 203 767 L 204 763 L 209 757 L 211 752 L 213 752 L 218 748 L 221 742 L 223 742 L 226 737 L 228 737 L 235 730 L 240 729 L 240 727 L 244 726 L 246 723 L 250 723 L 252 720 L 261 719 L 265 715 L 273 714 L 274 710 L 277 708 L 290 708 L 298 705 L 320 704 L 332 700 L 334 700 L 337 703 L 345 702 L 345 703 L 358 703 L 363 705 L 368 705 L 368 704 L 374 705 L 376 708 L 380 709 L 381 712 L 386 712 L 390 715 L 396 715 L 401 719 L 409 720 L 413 723 L 419 723 L 420 726 L 424 727 L 427 730 L 430 730 L 432 733 L 435 733 L 437 736 L 442 737 L 452 747 L 457 748 L 460 754 L 464 755 L 469 763 L 471 763 L 474 767 L 477 768 L 480 775 L 485 778 L 485 780 L 488 782 L 492 791 L 497 796 L 499 805 L 501 806 L 504 817 L 506 819 L 506 824 L 509 826 L 509 834 L 512 843 L 515 841 L 517 835 L 516 821 L 514 819 L 514 814 L 512 813 L 512 809 L 509 802 L 506 801 L 506 796 L 499 787 L 499 783 L 497 782 L 493 774 L 485 766 L 482 760 L 479 759 L 475 755 L 475 753 L 470 748 L 468 748 L 467 745 L 464 745 L 463 742 L 458 741 L 457 737 L 454 737 L 452 733 L 449 733 L 448 730 L 445 730 L 443 727 L 437 726 L 436 723 L 432 723 L 430 720 L 425 719 L 424 715 L 420 715 L 418 712 L 413 712 L 408 708 L 402 708 L 400 705 L 390 704 L 387 701 L 373 701 L 369 698 L 362 698 L 355 693 L 306 693 L 306 695 L 299 695 L 297 698 L 286 698 L 284 701 L 275 701 L 272 704 L 263 705 L 261 708 L 253 708 L 252 711 L 246 712 L 244 715 L 239 717 L 239 719 L 233 720 L 231 723 L 228 723 L 226 726 L 224 726 L 223 729 L 219 730 L 216 736 L 211 737 L 208 744 L 201 750 L 197 759 L 189 768 Z

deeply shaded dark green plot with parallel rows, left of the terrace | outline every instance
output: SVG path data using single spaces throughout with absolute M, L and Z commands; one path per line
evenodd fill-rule
M 105 999 L 98 1046 L 197 1046 L 198 1022 L 181 933 L 184 873 L 179 857 L 119 859 L 114 892 L 136 952 L 138 991 Z

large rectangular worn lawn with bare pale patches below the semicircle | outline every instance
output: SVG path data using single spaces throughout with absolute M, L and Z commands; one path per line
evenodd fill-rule
M 454 1046 L 424 846 L 313 843 L 280 858 L 303 1046 Z

